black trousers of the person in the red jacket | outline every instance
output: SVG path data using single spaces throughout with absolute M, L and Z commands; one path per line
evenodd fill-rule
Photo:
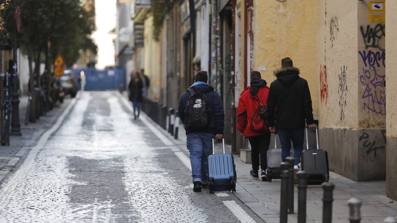
M 259 170 L 259 154 L 260 154 L 260 169 L 266 170 L 268 168 L 268 149 L 270 145 L 270 134 L 249 136 L 249 143 L 251 144 L 251 160 L 252 169 L 254 173 L 258 173 Z

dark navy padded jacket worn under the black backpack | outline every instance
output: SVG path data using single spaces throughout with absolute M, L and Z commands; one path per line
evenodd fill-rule
M 208 127 L 202 129 L 189 129 L 185 125 L 186 134 L 190 133 L 211 133 L 223 134 L 225 128 L 225 111 L 222 104 L 221 97 L 214 91 L 214 88 L 207 84 L 199 84 L 192 87 L 197 94 L 205 94 L 210 104 L 210 123 Z M 185 92 L 179 101 L 178 115 L 183 123 L 185 123 L 185 109 L 187 100 L 189 99 L 189 92 Z

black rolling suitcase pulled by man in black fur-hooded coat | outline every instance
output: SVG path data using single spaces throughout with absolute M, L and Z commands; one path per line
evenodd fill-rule
M 316 126 L 317 149 L 309 150 L 308 137 L 306 130 L 306 150 L 301 154 L 301 169 L 309 175 L 307 183 L 321 184 L 330 180 L 330 171 L 328 169 L 328 154 L 325 150 L 318 149 L 318 127 Z

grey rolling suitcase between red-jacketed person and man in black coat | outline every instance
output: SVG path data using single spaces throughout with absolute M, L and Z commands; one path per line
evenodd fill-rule
M 277 148 L 276 144 L 276 133 L 274 133 L 274 149 L 268 150 L 268 168 L 266 169 L 266 175 L 268 175 L 268 182 L 272 182 L 272 179 L 280 179 L 281 174 L 281 148 Z

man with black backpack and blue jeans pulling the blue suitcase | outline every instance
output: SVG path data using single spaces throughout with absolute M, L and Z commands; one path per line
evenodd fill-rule
M 182 94 L 178 108 L 179 118 L 185 124 L 195 192 L 208 187 L 206 168 L 212 137 L 222 139 L 225 127 L 221 97 L 207 81 L 207 71 L 198 71 L 193 85 Z

